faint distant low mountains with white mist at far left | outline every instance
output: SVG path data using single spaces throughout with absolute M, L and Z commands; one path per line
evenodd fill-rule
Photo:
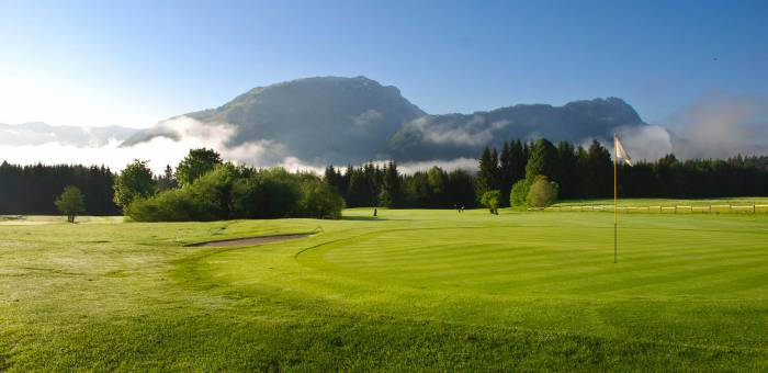
M 55 126 L 42 122 L 0 123 L 0 146 L 33 146 L 59 143 L 78 147 L 97 147 L 106 145 L 110 142 L 123 142 L 137 132 L 138 129 L 121 126 L 78 127 Z

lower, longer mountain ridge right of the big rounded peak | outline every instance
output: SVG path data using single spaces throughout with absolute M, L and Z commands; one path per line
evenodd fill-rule
M 395 159 L 476 157 L 486 145 L 498 146 L 515 138 L 578 143 L 608 139 L 617 127 L 643 124 L 637 112 L 617 98 L 575 101 L 563 106 L 521 104 L 473 114 L 418 117 L 389 138 L 387 149 Z

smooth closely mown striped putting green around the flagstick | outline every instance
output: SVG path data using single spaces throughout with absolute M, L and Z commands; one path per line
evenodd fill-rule
M 765 216 L 622 216 L 614 264 L 608 214 L 387 213 L 279 250 L 268 271 L 260 250 L 205 271 L 361 313 L 768 354 Z M 296 275 L 269 276 L 281 268 Z

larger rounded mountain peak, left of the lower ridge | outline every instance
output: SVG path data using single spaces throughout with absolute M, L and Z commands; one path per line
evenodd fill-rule
M 385 157 L 386 139 L 403 123 L 426 115 L 397 88 L 364 78 L 307 78 L 259 87 L 217 109 L 185 116 L 228 123 L 237 134 L 228 145 L 268 139 L 303 160 L 327 163 Z M 126 146 L 176 135 L 163 125 L 136 134 Z

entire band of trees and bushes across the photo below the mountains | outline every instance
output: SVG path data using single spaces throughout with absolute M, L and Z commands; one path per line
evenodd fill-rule
M 397 163 L 334 166 L 325 173 L 291 173 L 224 162 L 210 149 L 193 149 L 176 168 L 155 176 L 146 161 L 120 174 L 106 167 L 0 163 L 0 214 L 56 214 L 65 187 L 82 193 L 84 212 L 137 219 L 332 217 L 340 205 L 454 208 L 601 199 L 613 194 L 611 154 L 599 142 L 577 146 L 547 139 L 486 147 L 476 173 L 432 167 L 403 174 Z M 619 166 L 623 197 L 734 197 L 768 195 L 768 157 L 656 161 Z M 195 184 L 197 180 L 201 180 Z M 489 193 L 489 194 L 488 194 Z M 132 207 L 132 204 L 136 205 Z M 174 213 L 176 212 L 176 213 Z M 165 215 L 163 215 L 165 214 Z

